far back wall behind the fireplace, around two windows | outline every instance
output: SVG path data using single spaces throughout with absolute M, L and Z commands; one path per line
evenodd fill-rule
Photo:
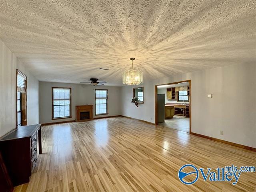
M 96 89 L 108 89 L 108 115 L 95 116 L 95 91 L 91 85 L 40 82 L 40 123 L 70 121 L 76 119 L 76 105 L 93 105 L 93 117 L 105 117 L 120 115 L 120 87 L 115 86 L 96 86 Z M 52 87 L 71 88 L 71 110 L 72 118 L 52 120 Z

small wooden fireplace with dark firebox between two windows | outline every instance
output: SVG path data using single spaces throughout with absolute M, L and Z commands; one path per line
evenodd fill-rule
M 76 122 L 89 121 L 92 118 L 92 105 L 78 105 L 76 106 Z

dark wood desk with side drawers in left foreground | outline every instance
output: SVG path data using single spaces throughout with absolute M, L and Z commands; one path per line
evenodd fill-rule
M 42 154 L 41 124 L 20 126 L 0 138 L 0 152 L 13 186 L 29 182 L 37 150 Z

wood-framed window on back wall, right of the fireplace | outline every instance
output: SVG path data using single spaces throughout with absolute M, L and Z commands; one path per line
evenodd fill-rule
M 108 90 L 95 90 L 95 114 L 108 114 Z

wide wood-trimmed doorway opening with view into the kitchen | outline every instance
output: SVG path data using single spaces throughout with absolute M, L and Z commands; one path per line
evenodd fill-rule
M 191 80 L 155 86 L 155 122 L 191 133 Z

